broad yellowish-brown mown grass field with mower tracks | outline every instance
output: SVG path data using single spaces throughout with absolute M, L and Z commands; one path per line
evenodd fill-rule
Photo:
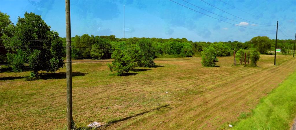
M 73 63 L 73 118 L 79 127 L 107 123 L 102 129 L 224 129 L 295 71 L 292 56 L 277 56 L 277 66 L 273 57 L 262 55 L 258 67 L 219 57 L 213 68 L 196 57 L 169 58 L 178 60 L 124 77 L 104 62 Z M 65 129 L 65 67 L 44 79 L 28 76 L 0 73 L 0 129 Z

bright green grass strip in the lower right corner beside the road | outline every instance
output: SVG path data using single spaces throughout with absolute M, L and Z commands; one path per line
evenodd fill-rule
M 296 115 L 296 71 L 263 98 L 234 129 L 290 129 Z

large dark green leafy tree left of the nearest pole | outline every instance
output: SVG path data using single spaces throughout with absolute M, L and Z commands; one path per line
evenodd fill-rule
M 38 71 L 55 72 L 64 66 L 62 41 L 59 34 L 50 30 L 50 26 L 40 15 L 25 12 L 25 17 L 18 18 L 12 40 L 5 46 L 23 46 L 8 48 L 7 61 L 14 71 L 22 71 L 24 64 L 33 69 L 32 75 L 38 77 Z M 41 46 L 41 47 L 31 47 Z M 43 64 L 44 63 L 44 64 Z

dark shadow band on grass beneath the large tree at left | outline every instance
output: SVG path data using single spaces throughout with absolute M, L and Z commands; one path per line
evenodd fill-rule
M 82 72 L 72 72 L 72 77 L 74 76 L 84 76 L 87 73 L 82 73 Z M 39 78 L 30 78 L 28 76 L 16 76 L 16 77 L 1 77 L 0 80 L 14 80 L 14 79 L 26 79 L 27 81 L 31 81 L 31 80 L 36 80 L 36 79 L 66 79 L 66 72 L 59 72 L 59 73 L 44 73 L 44 74 L 40 74 Z

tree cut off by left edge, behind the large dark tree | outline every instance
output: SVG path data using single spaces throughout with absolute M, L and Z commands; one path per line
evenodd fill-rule
M 13 36 L 14 25 L 9 19 L 9 15 L 0 11 L 0 39 L 9 39 Z M 4 42 L 0 40 L 0 46 L 4 46 Z M 7 50 L 5 47 L 0 47 L 0 64 L 6 62 Z

